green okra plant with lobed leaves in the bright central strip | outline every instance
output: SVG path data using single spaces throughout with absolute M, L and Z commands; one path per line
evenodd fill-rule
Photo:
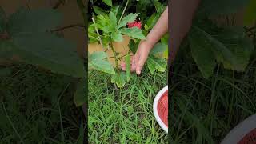
M 126 2 L 126 6 L 128 2 L 129 0 Z M 112 74 L 111 82 L 117 84 L 118 87 L 125 86 L 126 82 L 130 81 L 130 55 L 135 54 L 138 43 L 140 40 L 146 38 L 145 35 L 152 28 L 151 24 L 153 22 L 152 18 L 150 18 L 150 23 L 148 22 L 148 25 L 145 25 L 145 30 L 142 30 L 142 23 L 136 22 L 139 14 L 130 13 L 125 16 L 126 6 L 122 10 L 120 17 L 118 16 L 120 14 L 118 13 L 119 6 L 112 6 L 111 10 L 106 13 L 103 13 L 103 10 L 99 10 L 98 7 L 97 9 L 94 8 L 98 15 L 93 16 L 88 30 L 90 42 L 98 42 L 103 48 L 102 51 L 97 51 L 89 55 L 89 69 L 101 70 L 105 73 Z M 122 42 L 123 36 L 125 35 L 130 37 L 131 40 L 127 47 L 129 49 L 128 53 L 122 55 L 116 51 L 113 42 Z M 156 70 L 161 72 L 166 70 L 166 58 L 162 57 L 163 51 L 167 50 L 166 43 L 159 42 L 150 53 L 146 66 L 152 74 Z M 114 66 L 108 61 L 110 57 L 106 53 L 106 50 L 111 50 L 113 53 Z M 160 57 L 159 54 L 161 55 Z M 167 55 L 167 52 L 165 54 Z M 126 72 L 119 70 L 119 64 L 122 58 L 126 62 Z

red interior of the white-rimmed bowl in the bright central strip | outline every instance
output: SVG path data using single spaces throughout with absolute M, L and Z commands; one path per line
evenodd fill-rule
M 168 90 L 159 98 L 158 114 L 162 122 L 168 127 Z

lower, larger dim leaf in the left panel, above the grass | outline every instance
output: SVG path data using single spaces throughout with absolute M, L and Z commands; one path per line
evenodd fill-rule
M 73 42 L 47 33 L 16 34 L 13 42 L 22 59 L 30 64 L 78 78 L 86 74 Z

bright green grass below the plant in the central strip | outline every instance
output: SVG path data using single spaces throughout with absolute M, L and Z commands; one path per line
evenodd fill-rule
M 116 89 L 108 75 L 90 71 L 89 142 L 167 143 L 153 114 L 154 97 L 166 83 L 166 73 L 145 72 Z

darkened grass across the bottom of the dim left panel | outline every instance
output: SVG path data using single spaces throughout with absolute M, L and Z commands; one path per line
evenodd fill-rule
M 74 82 L 34 66 L 0 67 L 0 143 L 82 143 Z

